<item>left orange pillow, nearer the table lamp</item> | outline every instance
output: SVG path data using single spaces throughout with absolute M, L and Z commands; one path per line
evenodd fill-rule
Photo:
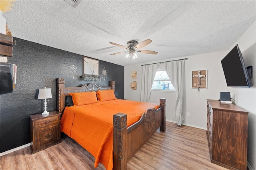
M 85 104 L 92 104 L 96 103 L 97 97 L 96 92 L 77 92 L 77 93 L 69 93 L 72 96 L 72 100 L 74 106 L 85 105 Z

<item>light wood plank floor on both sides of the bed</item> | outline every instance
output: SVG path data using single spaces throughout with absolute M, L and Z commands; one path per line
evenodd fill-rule
M 62 142 L 31 154 L 30 147 L 1 156 L 1 170 L 105 170 L 66 135 Z M 206 131 L 166 122 L 128 162 L 128 170 L 227 170 L 210 162 Z

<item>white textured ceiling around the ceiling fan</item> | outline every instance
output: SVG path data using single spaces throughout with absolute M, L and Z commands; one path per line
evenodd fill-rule
M 256 1 L 16 0 L 3 14 L 14 37 L 119 65 L 228 50 L 256 19 Z M 138 60 L 129 40 L 151 39 Z M 71 57 L 71 56 L 67 56 Z

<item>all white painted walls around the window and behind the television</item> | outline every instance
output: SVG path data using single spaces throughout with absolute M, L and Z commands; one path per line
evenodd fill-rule
M 206 129 L 206 99 L 219 99 L 220 92 L 230 92 L 232 98 L 235 99 L 237 106 L 249 112 L 248 114 L 248 162 L 252 169 L 256 169 L 256 62 L 255 62 L 255 33 L 256 22 L 248 28 L 248 30 L 228 49 L 227 51 L 219 51 L 202 55 L 186 56 L 185 61 L 185 90 L 184 90 L 184 121 L 182 124 L 191 125 Z M 232 88 L 227 87 L 224 72 L 222 70 L 221 60 L 228 52 L 238 44 L 246 66 L 254 66 L 254 78 L 252 79 L 253 87 L 251 88 Z M 169 60 L 182 59 L 170 58 Z M 164 62 L 156 61 L 156 62 Z M 148 63 L 143 63 L 148 64 Z M 138 73 L 136 80 L 132 79 L 130 74 L 133 70 Z M 192 87 L 192 71 L 208 70 L 207 89 L 197 89 Z M 135 64 L 124 67 L 124 98 L 128 100 L 140 100 L 141 89 L 141 64 Z M 130 88 L 130 83 L 137 81 L 137 90 Z M 159 98 L 166 98 L 166 119 L 174 121 L 175 117 L 175 94 L 152 92 L 150 102 L 159 103 Z M 187 116 L 190 112 L 190 116 Z

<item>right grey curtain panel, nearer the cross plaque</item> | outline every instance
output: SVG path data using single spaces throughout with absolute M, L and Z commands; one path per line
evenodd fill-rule
M 164 63 L 166 73 L 176 90 L 175 122 L 178 126 L 181 126 L 182 121 L 184 120 L 182 114 L 184 63 L 184 60 Z

